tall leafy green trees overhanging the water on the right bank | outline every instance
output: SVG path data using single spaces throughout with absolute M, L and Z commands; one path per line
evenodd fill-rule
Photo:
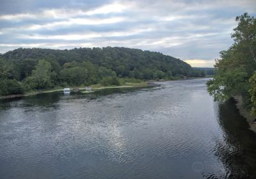
M 236 21 L 234 43 L 220 52 L 207 89 L 215 100 L 242 97 L 244 107 L 256 117 L 256 19 L 244 13 Z

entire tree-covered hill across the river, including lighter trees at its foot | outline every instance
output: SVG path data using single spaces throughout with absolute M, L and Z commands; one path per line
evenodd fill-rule
M 203 71 L 194 70 L 188 63 L 172 56 L 124 47 L 71 50 L 20 48 L 0 56 L 1 95 L 60 85 L 97 84 L 104 77 L 116 81 L 124 77 L 150 80 L 204 75 Z M 10 87 L 20 85 L 17 91 Z M 4 89 L 3 86 L 8 87 Z M 11 92 L 6 92 L 8 88 Z

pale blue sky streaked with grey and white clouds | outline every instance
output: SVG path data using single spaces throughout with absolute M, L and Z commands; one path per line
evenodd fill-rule
M 0 53 L 129 47 L 213 67 L 244 12 L 255 16 L 256 0 L 0 0 Z

